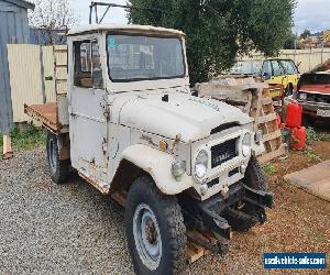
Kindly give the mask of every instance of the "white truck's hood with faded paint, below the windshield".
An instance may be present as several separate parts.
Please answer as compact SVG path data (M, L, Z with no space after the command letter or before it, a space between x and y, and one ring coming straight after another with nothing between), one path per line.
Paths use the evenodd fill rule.
M125 100L119 110L122 125L168 139L180 134L184 142L208 138L212 129L224 123L242 125L252 121L235 107L185 92L140 94Z

